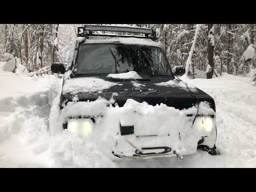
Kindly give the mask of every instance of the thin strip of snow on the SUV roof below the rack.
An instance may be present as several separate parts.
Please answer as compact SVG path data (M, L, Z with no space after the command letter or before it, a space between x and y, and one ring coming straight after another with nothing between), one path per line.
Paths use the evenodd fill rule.
M110 35L110 34L107 34ZM114 36L114 35L113 35ZM134 35L133 35L134 36ZM141 37L141 36L139 36ZM147 38L136 38L136 37L89 37L82 45L87 43L124 43L124 44L136 44L136 45L148 45L162 47L161 44L152 41Z

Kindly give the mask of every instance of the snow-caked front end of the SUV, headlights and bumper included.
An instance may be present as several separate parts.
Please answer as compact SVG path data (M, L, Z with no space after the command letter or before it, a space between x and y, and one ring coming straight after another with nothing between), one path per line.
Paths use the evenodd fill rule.
M123 107L109 104L103 98L68 102L60 121L69 131L93 140L107 154L124 158L181 156L195 153L198 145L215 145L215 111L207 102L199 103L198 109L183 110L132 99ZM81 120L90 118L93 121Z

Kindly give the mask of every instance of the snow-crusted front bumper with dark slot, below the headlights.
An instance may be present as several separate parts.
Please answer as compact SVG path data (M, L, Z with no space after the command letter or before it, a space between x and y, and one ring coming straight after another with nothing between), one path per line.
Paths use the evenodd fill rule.
M135 135L119 135L114 137L113 155L119 158L145 159L151 157L182 157L196 153L197 149L215 149L217 130L207 136L187 136L177 139L168 135L156 137L136 137Z

